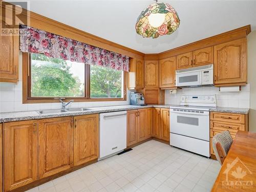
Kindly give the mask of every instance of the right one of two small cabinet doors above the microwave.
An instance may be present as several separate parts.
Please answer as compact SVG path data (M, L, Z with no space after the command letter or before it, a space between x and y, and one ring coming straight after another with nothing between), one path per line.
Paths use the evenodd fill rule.
M193 67L214 63L214 47L207 47L193 52Z

